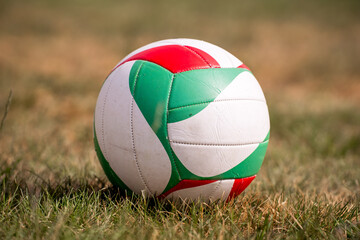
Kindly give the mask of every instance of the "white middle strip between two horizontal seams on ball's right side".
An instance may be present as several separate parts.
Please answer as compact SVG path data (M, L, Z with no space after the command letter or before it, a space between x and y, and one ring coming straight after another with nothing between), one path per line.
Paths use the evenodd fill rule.
M266 103L254 100L215 100L193 117L168 123L170 141L186 144L259 143L269 128Z

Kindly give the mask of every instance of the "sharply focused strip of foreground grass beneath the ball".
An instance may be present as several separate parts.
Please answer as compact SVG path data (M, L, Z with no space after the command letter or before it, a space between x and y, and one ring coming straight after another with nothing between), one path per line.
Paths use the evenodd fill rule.
M360 204L355 196L331 200L268 187L250 190L226 204L174 205L126 198L96 177L65 178L52 184L40 179L39 189L31 189L24 179L10 180L11 171L2 174L2 238L359 237ZM27 182L37 178L32 173L27 176Z

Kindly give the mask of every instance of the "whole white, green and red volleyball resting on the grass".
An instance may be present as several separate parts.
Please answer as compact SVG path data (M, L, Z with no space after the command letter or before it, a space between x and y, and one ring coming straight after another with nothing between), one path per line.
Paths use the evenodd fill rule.
M105 80L95 109L95 148L110 181L161 198L240 194L261 167L269 131L251 71L192 39L130 53Z

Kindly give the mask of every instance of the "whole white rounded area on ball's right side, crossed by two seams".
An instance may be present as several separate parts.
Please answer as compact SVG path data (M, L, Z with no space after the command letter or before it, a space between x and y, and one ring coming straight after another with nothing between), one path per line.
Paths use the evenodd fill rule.
M211 177L245 160L270 130L262 90L251 73L239 74L205 109L168 123L171 146L192 173Z

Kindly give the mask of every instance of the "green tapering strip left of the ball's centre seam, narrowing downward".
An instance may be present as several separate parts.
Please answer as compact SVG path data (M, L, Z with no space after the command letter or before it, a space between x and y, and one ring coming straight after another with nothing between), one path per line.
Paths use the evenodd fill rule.
M129 77L131 94L171 161L172 173L165 191L180 181L167 132L168 102L174 77L165 68L141 60L134 63Z

